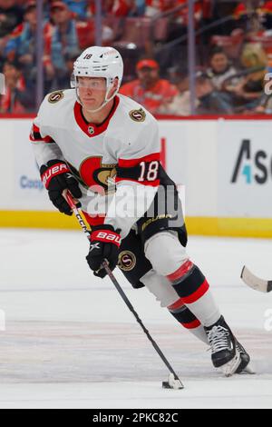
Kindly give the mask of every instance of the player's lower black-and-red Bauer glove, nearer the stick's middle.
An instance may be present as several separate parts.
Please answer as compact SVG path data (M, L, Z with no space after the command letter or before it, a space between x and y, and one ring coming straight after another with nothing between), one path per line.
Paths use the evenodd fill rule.
M112 225L99 225L92 227L90 242L87 263L95 276L103 278L107 273L102 268L102 262L106 259L111 270L118 263L121 235L114 231Z

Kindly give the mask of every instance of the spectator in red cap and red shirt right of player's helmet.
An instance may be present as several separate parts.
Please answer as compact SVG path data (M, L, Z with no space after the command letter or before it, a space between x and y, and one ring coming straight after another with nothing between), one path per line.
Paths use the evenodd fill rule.
M159 64L153 59L139 61L136 71L138 79L121 86L120 93L142 104L151 114L160 113L162 106L178 94L177 87L160 79Z

